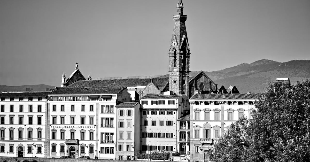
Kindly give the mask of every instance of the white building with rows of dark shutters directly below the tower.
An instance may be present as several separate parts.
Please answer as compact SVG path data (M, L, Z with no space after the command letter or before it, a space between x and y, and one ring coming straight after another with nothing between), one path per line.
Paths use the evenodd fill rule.
M187 96L147 94L141 97L140 103L141 152L177 151L177 119L190 109Z

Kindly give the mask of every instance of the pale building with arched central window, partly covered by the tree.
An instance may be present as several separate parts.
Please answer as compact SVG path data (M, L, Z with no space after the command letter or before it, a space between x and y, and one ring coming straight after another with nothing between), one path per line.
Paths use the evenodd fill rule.
M213 143L241 116L251 119L259 94L195 94L190 102L190 155L193 161L209 161Z

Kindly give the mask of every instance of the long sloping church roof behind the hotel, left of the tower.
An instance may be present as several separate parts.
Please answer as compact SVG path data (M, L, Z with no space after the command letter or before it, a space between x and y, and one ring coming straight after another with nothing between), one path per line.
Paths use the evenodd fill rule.
M169 82L169 77L153 78L153 83L157 86L165 86ZM147 86L150 79L109 79L109 80L79 80L68 87L134 87Z

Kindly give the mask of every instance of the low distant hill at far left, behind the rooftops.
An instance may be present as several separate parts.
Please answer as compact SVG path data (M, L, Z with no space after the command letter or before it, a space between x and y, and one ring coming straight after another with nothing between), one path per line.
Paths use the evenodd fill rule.
M38 85L22 85L22 86L6 86L0 85L0 92L3 91L26 91L26 88L32 88L32 91L46 91L46 88L55 88L54 86L38 84Z

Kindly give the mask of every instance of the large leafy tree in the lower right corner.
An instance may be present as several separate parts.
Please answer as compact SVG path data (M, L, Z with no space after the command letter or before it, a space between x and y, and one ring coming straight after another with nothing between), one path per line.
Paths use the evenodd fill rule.
M209 151L212 162L308 161L310 81L274 81L255 102L252 119L241 118Z

